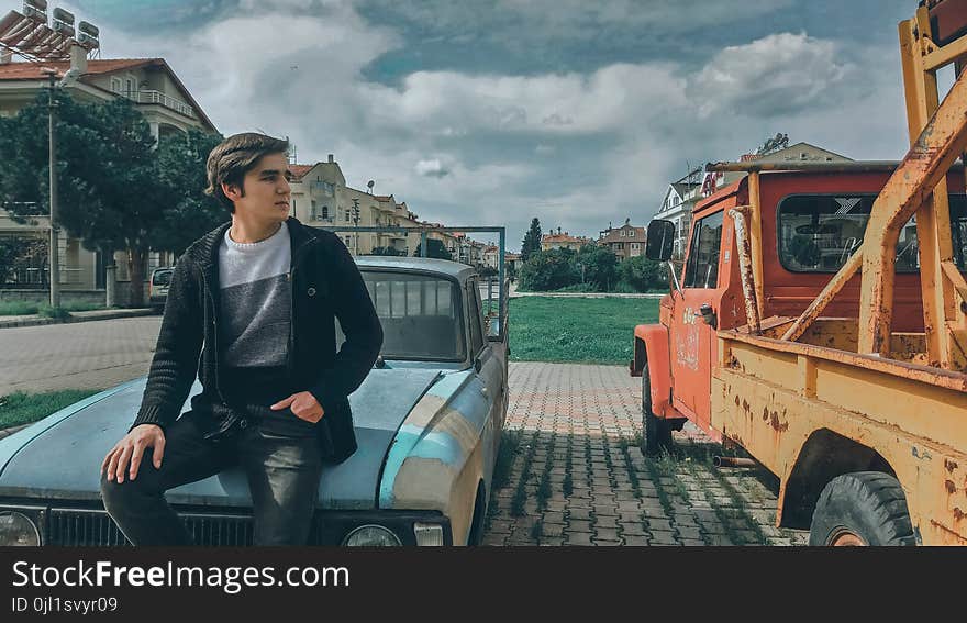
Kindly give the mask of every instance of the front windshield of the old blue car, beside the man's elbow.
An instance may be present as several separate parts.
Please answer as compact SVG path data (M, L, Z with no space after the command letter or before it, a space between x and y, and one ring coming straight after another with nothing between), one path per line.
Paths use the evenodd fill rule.
M363 270L382 324L385 359L463 361L463 303L455 281L444 277ZM336 337L345 337L336 321Z

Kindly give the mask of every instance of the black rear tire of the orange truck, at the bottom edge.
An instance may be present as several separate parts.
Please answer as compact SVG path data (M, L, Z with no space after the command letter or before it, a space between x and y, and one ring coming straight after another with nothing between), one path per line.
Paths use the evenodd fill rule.
M881 471L855 471L833 478L816 502L809 544L916 545L900 482Z

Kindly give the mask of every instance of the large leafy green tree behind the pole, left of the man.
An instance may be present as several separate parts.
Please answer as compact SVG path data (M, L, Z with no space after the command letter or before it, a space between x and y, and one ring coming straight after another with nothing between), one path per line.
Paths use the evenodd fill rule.
M0 120L0 202L19 222L46 214L47 92ZM221 136L198 131L155 140L126 99L82 104L56 91L57 222L90 251L125 251L131 302L143 304L148 249L184 251L229 215L202 193L204 162ZM37 208L41 208L40 212Z

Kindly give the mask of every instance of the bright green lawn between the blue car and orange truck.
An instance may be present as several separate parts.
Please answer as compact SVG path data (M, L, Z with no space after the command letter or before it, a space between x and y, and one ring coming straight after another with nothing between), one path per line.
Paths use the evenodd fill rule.
M658 299L511 299L510 359L626 365L634 326L655 322Z

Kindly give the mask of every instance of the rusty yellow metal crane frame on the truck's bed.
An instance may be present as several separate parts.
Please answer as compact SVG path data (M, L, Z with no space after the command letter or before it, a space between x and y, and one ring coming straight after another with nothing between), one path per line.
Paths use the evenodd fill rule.
M936 69L941 59L949 64L963 58L967 37L948 44L949 52L942 55L945 48L930 41L925 7L918 10L915 19L901 22L899 32L910 152L877 197L860 249L782 338L798 340L843 286L862 271L858 351L890 357L893 259L900 230L915 213L926 360L934 367L959 368L965 360L967 285L953 263L946 173L967 148L967 81L958 75L941 104Z

